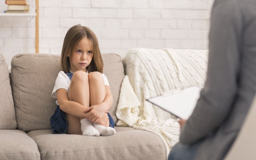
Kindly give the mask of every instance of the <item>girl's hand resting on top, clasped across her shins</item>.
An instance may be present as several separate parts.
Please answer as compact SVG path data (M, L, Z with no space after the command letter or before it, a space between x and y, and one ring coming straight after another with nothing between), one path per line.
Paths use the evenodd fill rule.
M100 118L105 114L108 113L108 111L103 109L104 107L102 107L100 104L99 105L94 105L91 106L87 109L85 109L84 112L89 112L85 118L89 119L92 122L98 122L100 120Z

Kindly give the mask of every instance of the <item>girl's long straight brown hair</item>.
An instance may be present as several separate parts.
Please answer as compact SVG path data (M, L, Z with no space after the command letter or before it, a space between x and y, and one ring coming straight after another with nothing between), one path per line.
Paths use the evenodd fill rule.
M70 72L70 61L69 57L72 57L72 53L76 47L76 45L80 42L82 38L88 38L92 44L92 61L89 66L86 67L87 71L94 72L98 71L100 73L103 72L103 61L100 54L100 48L98 44L97 37L92 32L92 30L88 27L84 27L79 25L75 25L71 27L63 42L62 51L61 51L61 69L68 73ZM69 57L68 57L69 53Z

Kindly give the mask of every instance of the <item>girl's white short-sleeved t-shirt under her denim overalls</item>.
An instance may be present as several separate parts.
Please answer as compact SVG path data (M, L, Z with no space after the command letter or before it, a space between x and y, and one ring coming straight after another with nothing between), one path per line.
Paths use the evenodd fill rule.
M87 75L88 74L89 73L87 72ZM104 84L109 86L108 79L104 74L102 74L102 78L104 80ZM68 76L63 71L60 71L55 81L55 86L52 91L52 97L57 98L57 90L60 88L68 91L70 82L71 81ZM58 100L56 100L56 104L59 105Z

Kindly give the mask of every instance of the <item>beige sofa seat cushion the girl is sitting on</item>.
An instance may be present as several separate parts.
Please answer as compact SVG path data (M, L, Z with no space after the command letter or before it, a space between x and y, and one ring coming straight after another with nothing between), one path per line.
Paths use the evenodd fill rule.
M164 142L154 133L115 127L111 136L52 134L51 130L28 132L36 141L41 159L166 159Z

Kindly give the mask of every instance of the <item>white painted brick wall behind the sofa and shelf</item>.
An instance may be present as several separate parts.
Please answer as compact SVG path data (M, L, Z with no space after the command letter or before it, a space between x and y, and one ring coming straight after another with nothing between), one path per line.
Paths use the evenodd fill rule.
M30 12L35 0L28 0ZM75 24L90 27L102 53L122 57L130 48L207 49L213 0L42 0L39 52L60 54ZM7 10L0 2L0 12ZM35 18L0 16L0 52L8 66L15 54L35 52Z

